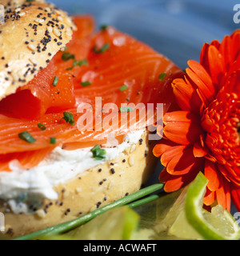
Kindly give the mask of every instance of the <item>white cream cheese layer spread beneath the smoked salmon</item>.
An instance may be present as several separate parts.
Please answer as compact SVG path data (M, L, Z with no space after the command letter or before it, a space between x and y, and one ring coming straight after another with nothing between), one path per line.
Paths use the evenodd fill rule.
M106 159L96 160L90 148L63 150L57 147L38 166L23 170L17 160L10 162L11 172L0 172L0 198L6 200L14 213L27 212L26 202L39 203L43 198L54 200L54 187L78 177L85 170L118 158L124 150L138 143L144 130L126 134L117 146L105 148Z

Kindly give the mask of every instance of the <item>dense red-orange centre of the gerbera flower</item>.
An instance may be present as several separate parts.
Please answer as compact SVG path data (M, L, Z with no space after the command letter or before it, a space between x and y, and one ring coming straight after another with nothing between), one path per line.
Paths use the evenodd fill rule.
M202 128L206 145L221 164L240 166L240 99L237 94L224 94L203 110Z

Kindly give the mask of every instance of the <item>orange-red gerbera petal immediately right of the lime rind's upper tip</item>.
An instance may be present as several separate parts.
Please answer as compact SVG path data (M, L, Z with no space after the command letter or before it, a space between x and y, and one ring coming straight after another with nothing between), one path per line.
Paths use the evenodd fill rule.
M206 160L205 168L204 168L204 175L208 179L207 187L210 191L218 190L220 186L219 178L218 178L218 169L216 168L213 162Z

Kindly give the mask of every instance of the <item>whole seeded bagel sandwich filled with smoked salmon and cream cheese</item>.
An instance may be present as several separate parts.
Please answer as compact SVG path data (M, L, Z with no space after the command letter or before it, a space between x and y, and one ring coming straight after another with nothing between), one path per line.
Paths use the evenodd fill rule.
M156 131L150 132L148 126L119 129L117 144L109 145L106 137L110 130L99 133L93 129L84 134L78 129L78 104L84 102L82 98L90 102L91 97L103 94L105 100L112 97L117 107L119 101L132 99L145 105L161 102L166 111L173 101L171 82L182 75L182 70L149 46L112 27L97 35L90 33L91 18L86 18L87 32L81 34L84 26L79 28L66 12L44 1L4 0L0 4L4 6L0 8L4 10L4 18L0 19L0 213L5 224L0 238L10 239L73 220L139 190L157 163L158 158L152 154L156 141L149 139ZM76 38L78 32L81 38ZM74 40L76 46L71 45ZM104 44L104 40L109 41ZM69 46L74 54L66 50ZM90 63L81 55L86 48ZM134 58L134 54L139 56ZM77 56L84 58L79 60ZM124 56L130 59L122 64ZM120 77L115 78L114 74ZM111 82L104 80L108 77ZM116 82L118 79L123 80ZM21 88L26 92L26 85L32 81L32 96L36 96L40 84L44 89L49 84L45 93L50 100L43 112L30 119L26 115L28 106L21 109L26 102L20 95L28 94L19 92L22 93ZM91 85L96 81L100 86ZM105 89L101 90L101 86ZM13 99L20 101L22 116L6 111ZM119 107L115 113L121 111ZM123 112L128 114L131 110ZM104 149L104 157L94 157L95 145Z

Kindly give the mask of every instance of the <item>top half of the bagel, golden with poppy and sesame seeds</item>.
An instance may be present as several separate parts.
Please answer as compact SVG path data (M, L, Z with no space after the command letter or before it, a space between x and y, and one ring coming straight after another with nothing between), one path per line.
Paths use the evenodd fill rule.
M0 7L1 100L45 68L70 42L75 26L66 12L44 1L0 0Z

